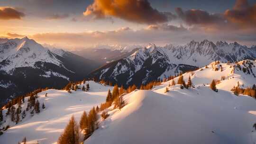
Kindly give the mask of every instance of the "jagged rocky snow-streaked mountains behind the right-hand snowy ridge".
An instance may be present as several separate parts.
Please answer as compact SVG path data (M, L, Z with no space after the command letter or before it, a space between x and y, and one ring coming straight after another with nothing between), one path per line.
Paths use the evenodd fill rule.
M202 67L212 61L236 62L256 59L256 47L208 40L183 46L150 44L135 53L109 63L91 73L92 77L123 84L146 84L179 72Z

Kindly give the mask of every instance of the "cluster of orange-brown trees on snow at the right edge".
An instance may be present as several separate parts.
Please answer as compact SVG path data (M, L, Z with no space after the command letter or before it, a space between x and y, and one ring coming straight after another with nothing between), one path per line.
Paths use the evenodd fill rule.
M256 98L256 85L255 84L252 87L247 87L246 89L243 89L243 88L240 88L240 84L238 81L237 86L236 87L234 86L231 89L231 91L233 91L233 93L237 96L239 94L244 94L244 95L248 95L250 97Z

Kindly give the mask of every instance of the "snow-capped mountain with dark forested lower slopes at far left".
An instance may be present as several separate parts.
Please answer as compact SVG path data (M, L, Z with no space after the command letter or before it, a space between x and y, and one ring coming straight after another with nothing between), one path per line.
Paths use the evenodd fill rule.
M43 87L61 88L83 79L99 63L61 49L49 49L33 39L9 39L0 44L0 99Z

